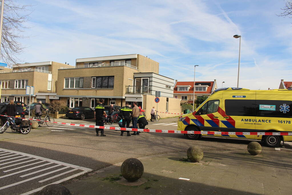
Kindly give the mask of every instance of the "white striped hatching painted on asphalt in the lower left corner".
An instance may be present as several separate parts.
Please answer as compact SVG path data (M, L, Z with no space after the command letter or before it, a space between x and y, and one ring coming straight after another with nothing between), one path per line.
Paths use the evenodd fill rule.
M44 186L42 186L42 187L40 187L40 188L37 188L37 189L33 189L33 190L28 191L28 192L26 192L26 193L23 194L23 195L28 195L28 194L32 194L32 193L34 193L34 192L37 192L37 191L41 190L42 188L44 188L44 187L47 186L47 185L50 185L50 184L58 184L58 183L60 183L60 182L63 182L63 181L66 181L66 180L72 179L72 178L74 178L74 177L77 177L77 176L82 175L82 174L84 174L84 173L87 173L87 172L89 172L89 171L92 171L92 170L89 169L89 168L85 168L85 167L81 167L81 166L77 166L77 165L72 165L72 164L64 163L64 162L60 162L60 161L55 161L55 160L47 159L47 158L44 158L44 157L41 157L41 156L35 156L35 155L31 155L31 154L26 154L26 153L17 152L17 151L12 151L12 150L7 150L7 149L2 149L2 148L0 148L0 151L4 151L4 152L6 152L6 153L9 152L9 153L13 153L13 154L18 154L18 155L20 155L20 156L13 157L13 158L10 158L10 159L1 160L1 161L8 161L8 162L1 163L1 164L0 164L0 169L4 169L4 168L11 167L11 169L9 169L9 170L4 170L3 172L8 172L8 171L12 171L12 170L20 169L19 171L15 172L15 173L11 173L11 174L8 174L8 175L4 175L4 176L2 176L2 177L8 177L8 176L11 176L11 175L15 175L15 174L17 174L17 173L22 173L22 172L25 172L25 171L28 171L28 170L32 170L32 169L34 169L34 168L39 168L39 167L41 167L41 166L45 166L45 165L53 164L53 163L55 163L55 164L57 164L57 165L55 165L55 166L51 166L51 167L48 167L48 168L45 168L45 169L42 169L42 170L37 170L37 171L35 171L35 172L33 172L33 173L27 173L27 174L25 174L25 175L22 175L22 177L25 177L25 176L28 176L28 175L32 175L32 174L34 174L34 173L38 173L38 172L41 172L41 171L44 171L44 170L47 170L47 169L51 169L51 168L54 168L54 167L57 167L57 166L64 166L64 167L59 168L59 169L57 169L57 170L53 170L53 171L48 172L48 173L44 173L44 174L41 174L41 175L38 175L38 176L35 176L35 177L31 177L31 178L28 178L28 179L26 179L26 180L22 180L22 181L15 182L15 183L10 183L10 184L8 183L8 185L3 186L3 187L0 187L0 190L1 190L1 189L8 188L8 187L12 187L12 186L15 186L15 185L18 185L18 184L24 183L24 182L27 182L27 185L30 186L31 189L33 189L33 186L35 186L35 185L34 185L34 182L37 182L37 181L31 181L31 182L29 182L30 180L34 180L34 179L39 178L39 177L44 177L44 176L46 176L46 175L50 175L50 174L52 174L52 173L59 172L59 171L64 170L64 169L68 169L68 168L70 169L70 170L67 170L67 171L65 171L65 172L61 172L61 173L59 172L57 175L54 175L54 174L53 174L53 175L51 175L51 177L48 177L48 178L46 178L46 177L45 177L45 178L42 178L43 180L41 180L41 181L39 181L39 182L45 182L45 181L51 180L51 179L56 178L56 177L60 177L60 180L58 180L58 181L56 181L56 182L53 182L53 183L46 182ZM0 152L0 154L1 154L1 153L4 153L4 152ZM9 154L9 153L8 153L8 154ZM21 159L12 160L12 159L15 159L15 158L21 158ZM29 160L24 161L25 159L29 159ZM23 166L17 167L17 165L19 165L19 164L27 163L27 162L31 162L31 161L35 161L35 160L41 160L41 161L38 161L38 162L34 162L34 163L31 163L31 164L27 164L27 165L23 165ZM1 162L1 161L0 161L0 162ZM17 162L17 161L23 161L23 162L21 162L21 163L11 164L11 163L13 163L13 162ZM39 165L39 166L35 166L35 167L31 167L31 168L27 168L27 169L25 169L25 170L21 170L21 168L23 168L23 167L31 166L31 165L34 165L34 164L37 164L37 163L40 163L40 162L47 162L47 163L42 164L42 165ZM8 163L9 163L10 165L8 165L8 166L4 166L4 167L1 167L2 165L8 164ZM15 167L13 168L13 166L15 166ZM79 173L76 173L76 174L74 174L74 175L70 175L69 177L66 177L66 178L63 178L64 176L62 177L62 175L65 175L65 174L68 174L68 173L70 173L70 172L74 172L74 171L77 171L77 170L80 171L80 172L79 172ZM0 177L0 178L2 178L2 177ZM13 182L13 181L14 181L14 180L12 180L12 182ZM0 185L1 185L1 184L0 184Z

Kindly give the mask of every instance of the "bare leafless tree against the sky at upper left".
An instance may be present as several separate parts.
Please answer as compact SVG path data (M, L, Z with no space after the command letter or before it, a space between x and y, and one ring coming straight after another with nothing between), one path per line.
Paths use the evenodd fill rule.
M25 22L29 20L29 15L32 12L29 8L31 7L31 5L18 5L14 0L4 1L1 62L10 65L22 62L17 55L22 53L25 48L20 43L20 39L26 38L26 36L23 36L23 32L26 28L29 28L25 26Z

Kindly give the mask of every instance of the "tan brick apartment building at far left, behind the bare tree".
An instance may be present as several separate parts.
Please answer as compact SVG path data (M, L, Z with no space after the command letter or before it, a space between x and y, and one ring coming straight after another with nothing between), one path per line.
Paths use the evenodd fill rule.
M12 69L0 70L2 84L1 102L14 100L29 104L26 86L34 86L31 102L50 103L59 99L56 95L58 69L69 66L59 62L36 62L13 65Z

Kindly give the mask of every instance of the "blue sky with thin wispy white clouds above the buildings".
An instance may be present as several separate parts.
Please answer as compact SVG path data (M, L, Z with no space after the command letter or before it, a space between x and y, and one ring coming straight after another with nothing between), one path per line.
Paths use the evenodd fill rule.
M20 1L34 11L23 62L141 54L179 81L217 79L218 87L279 88L291 79L292 18L284 0Z

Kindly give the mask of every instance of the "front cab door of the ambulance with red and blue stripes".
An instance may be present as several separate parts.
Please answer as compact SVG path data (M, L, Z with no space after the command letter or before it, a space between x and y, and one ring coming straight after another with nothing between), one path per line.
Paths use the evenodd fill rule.
M203 131L218 131L220 127L221 115L218 112L221 98L209 100L204 105L194 112L195 119L191 119Z

